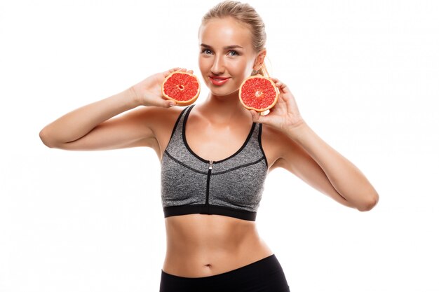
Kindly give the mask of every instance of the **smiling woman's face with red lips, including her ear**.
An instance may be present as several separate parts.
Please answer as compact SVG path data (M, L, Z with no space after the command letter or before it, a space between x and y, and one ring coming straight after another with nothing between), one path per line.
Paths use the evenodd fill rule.
M198 43L198 66L203 80L217 96L239 90L244 79L253 69L259 69L263 61L264 53L257 58L252 48L250 29L233 18L209 20L200 27Z

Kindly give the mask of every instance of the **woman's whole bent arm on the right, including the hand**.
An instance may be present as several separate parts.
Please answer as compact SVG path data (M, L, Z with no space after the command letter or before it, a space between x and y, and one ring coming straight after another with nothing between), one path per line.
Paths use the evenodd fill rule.
M271 80L280 92L278 102L266 116L253 110L250 112L254 122L274 127L285 138L277 136L281 145L275 166L296 174L341 204L360 211L372 209L379 196L360 169L326 144L305 123L287 85L276 78Z

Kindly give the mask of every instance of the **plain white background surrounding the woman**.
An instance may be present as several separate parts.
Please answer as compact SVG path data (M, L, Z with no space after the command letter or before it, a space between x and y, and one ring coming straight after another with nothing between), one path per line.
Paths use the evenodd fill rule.
M200 76L198 26L215 4L1 0L1 292L158 291L156 153L51 149L39 131L156 72ZM250 4L271 76L380 195L360 212L269 174L257 226L291 291L439 291L438 1Z

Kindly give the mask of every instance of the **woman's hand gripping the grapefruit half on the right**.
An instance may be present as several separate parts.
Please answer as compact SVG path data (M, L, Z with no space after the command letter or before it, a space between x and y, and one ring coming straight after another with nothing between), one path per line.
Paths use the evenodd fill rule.
M283 132L304 123L297 108L295 97L287 85L277 78L269 77L269 79L274 82L274 85L276 85L279 90L278 101L269 110L270 112L266 116L260 115L255 110L250 110L253 122L270 125Z

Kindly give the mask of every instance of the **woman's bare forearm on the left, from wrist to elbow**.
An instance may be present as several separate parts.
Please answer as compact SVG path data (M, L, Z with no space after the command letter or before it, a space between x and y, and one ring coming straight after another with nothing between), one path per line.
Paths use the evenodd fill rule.
M40 132L44 144L62 144L86 135L100 123L140 104L129 88L97 102L81 106L43 127Z

